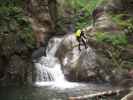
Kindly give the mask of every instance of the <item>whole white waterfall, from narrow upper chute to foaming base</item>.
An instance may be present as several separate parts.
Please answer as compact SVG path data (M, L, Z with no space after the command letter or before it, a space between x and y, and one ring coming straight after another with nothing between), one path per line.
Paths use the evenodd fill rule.
M61 70L61 64L55 57L56 50L59 47L61 38L53 38L49 41L46 54L42 56L35 65L35 85L36 86L52 86L60 88L72 88L77 86L76 83L68 82Z

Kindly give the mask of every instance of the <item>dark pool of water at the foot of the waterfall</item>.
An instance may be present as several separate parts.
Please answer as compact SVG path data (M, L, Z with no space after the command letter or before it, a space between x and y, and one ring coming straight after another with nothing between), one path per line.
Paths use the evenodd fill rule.
M117 88L108 84L79 84L73 88L51 86L0 87L0 100L68 100L71 96L82 96L115 89Z

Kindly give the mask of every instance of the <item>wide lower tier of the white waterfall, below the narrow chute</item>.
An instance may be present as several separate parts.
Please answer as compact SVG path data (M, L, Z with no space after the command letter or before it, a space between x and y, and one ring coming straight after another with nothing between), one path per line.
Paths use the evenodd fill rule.
M35 63L35 67L37 82L65 81L57 58L41 57L39 62Z

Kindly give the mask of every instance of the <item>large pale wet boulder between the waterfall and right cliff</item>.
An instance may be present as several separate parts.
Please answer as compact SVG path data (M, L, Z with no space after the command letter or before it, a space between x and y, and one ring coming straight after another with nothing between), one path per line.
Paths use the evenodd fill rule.
M91 47L82 51L78 49L78 42L73 34L66 35L62 40L56 56L59 58L64 74L68 80L89 81L96 78L96 55Z

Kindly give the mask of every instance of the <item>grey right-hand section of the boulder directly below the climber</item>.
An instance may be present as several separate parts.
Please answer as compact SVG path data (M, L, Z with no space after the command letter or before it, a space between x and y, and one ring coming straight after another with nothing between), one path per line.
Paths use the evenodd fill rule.
M75 73L77 73L77 79L82 81L95 80L96 73L96 54L92 48L88 47L83 50L77 60Z

